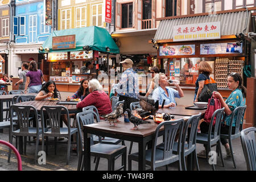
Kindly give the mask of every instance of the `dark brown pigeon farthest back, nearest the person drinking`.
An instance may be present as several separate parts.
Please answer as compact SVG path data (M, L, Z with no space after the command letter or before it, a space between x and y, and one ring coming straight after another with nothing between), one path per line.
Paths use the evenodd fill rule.
M139 105L141 105L144 111L149 111L150 115L154 116L159 109L159 101L155 101L148 97L139 96Z

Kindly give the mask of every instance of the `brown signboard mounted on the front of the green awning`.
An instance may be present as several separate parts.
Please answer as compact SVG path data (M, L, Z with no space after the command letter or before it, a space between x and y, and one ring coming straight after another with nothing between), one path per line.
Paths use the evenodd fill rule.
M53 36L52 49L75 49L76 35Z

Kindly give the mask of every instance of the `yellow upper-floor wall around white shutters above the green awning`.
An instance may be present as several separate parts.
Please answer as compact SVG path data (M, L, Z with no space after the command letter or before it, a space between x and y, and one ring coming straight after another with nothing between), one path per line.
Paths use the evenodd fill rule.
M64 0L67 1L67 0ZM65 9L71 9L71 28L76 28L76 7L84 7L86 6L86 26L92 26L92 5L98 5L102 4L102 22L105 20L105 1L104 0L86 0L86 2L83 3L76 3L76 0L70 0L70 5L68 6L62 6L61 5L62 0L58 1L58 30L62 30L61 27L61 10ZM106 23L103 23L103 26Z

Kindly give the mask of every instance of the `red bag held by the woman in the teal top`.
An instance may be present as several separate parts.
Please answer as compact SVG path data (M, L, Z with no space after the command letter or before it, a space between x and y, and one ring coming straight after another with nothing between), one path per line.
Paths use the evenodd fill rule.
M221 109L220 100L212 96L208 100L207 110L205 110L205 114L204 114L204 121L207 123L210 123L210 120L212 119L212 115L214 111L216 111L217 109ZM215 122L216 122L216 118L214 118L213 126L215 125Z

